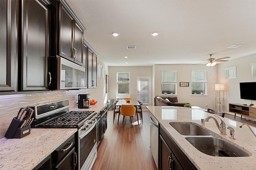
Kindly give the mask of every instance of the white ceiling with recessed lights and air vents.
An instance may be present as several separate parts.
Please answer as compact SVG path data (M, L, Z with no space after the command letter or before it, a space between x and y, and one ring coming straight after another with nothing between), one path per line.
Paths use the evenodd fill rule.
M84 39L108 66L197 64L209 54L230 60L256 54L256 0L66 2L86 28ZM160 34L153 37L154 31ZM231 45L243 46L227 49Z

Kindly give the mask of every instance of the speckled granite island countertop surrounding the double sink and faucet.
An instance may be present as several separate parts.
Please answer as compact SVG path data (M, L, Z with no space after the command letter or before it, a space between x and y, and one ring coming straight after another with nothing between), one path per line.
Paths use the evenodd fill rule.
M221 135L213 119L201 124L201 119L205 119L212 114L202 111L200 108L174 107L174 106L147 106L148 110L158 120L160 126L166 131L168 135L176 142L178 147L190 159L190 161L199 170L225 169L225 170L252 170L256 169L256 138L248 127L240 128L240 122L222 118L226 126L231 126L235 130L235 139L230 139L229 130L227 135ZM220 122L220 120L218 120ZM252 156L248 157L218 157L204 154L193 147L180 133L178 133L169 122L192 122L211 132L224 141L230 142L232 145L246 151ZM256 128L252 127L256 132Z

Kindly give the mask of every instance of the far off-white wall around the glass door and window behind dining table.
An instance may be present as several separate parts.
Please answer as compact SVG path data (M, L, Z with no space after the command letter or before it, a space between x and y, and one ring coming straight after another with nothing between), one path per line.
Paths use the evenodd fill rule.
M152 66L141 67L113 67L108 68L109 71L109 98L116 100L116 73L130 72L131 76L131 98L137 99L137 76L150 76L152 82ZM135 88L134 88L135 87ZM151 84L152 87L152 84ZM152 92L151 92L152 94ZM152 103L152 101L151 101Z

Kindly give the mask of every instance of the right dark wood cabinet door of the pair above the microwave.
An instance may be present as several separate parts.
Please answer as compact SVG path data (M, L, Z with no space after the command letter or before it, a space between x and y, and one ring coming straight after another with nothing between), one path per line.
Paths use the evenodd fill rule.
M75 23L74 27L75 62L85 66L86 56L83 55L84 30L78 25L78 23Z

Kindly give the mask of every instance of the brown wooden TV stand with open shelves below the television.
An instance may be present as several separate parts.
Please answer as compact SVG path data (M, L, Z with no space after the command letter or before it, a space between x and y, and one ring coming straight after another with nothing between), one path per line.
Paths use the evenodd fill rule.
M235 113L242 116L250 117L253 119L256 119L256 107L252 106L246 106L244 104L238 104L238 103L230 103L229 105L229 112Z

